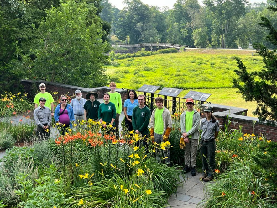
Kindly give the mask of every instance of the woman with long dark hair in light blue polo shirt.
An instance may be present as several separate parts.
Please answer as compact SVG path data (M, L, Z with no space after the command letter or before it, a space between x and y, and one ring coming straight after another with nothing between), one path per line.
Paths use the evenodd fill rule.
M133 131L132 116L134 107L139 105L137 93L129 90L127 100L124 102L125 126L128 131Z

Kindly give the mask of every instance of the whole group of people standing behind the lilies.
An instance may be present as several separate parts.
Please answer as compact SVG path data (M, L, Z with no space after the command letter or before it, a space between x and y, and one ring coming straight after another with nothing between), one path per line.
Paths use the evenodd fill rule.
M60 104L56 107L54 113L54 99L50 93L45 91L44 83L39 85L40 93L35 96L34 119L37 124L36 135L38 137L50 136L51 116L54 115L55 122L62 126L61 134L66 129L72 129L72 123L78 125L82 120L100 121L103 128L108 125L115 127L113 133L119 137L119 115L122 111L122 99L118 92L115 92L116 83L110 83L111 91L103 95L104 103L100 104L96 100L97 93L90 92L86 99L82 98L80 90L75 91L76 98L67 104L65 95L60 97ZM172 130L172 120L169 110L163 106L162 97L155 98L157 108L151 111L145 105L146 96L137 95L134 90L128 91L128 99L124 102L125 126L129 132L139 134L143 138L143 145L147 146L147 139L151 139L157 144L166 142L169 139ZM206 118L201 121L200 114L194 109L194 100L186 100L187 110L181 114L180 125L182 136L180 138L180 148L185 150L185 167L186 173L191 171L191 175L196 175L196 153L199 145L199 128L201 134L201 155L203 174L200 179L210 181L214 176L215 169L215 139L219 132L219 122L212 115L212 108L205 107L204 113ZM149 134L150 128L150 134ZM166 163L170 164L170 150L165 149Z

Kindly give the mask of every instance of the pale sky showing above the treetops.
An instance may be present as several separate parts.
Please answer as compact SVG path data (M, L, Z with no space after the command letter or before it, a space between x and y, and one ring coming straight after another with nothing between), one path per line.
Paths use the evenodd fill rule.
M164 7L167 6L169 8L173 8L173 4L176 2L176 0L141 0L143 3L148 4L149 6L159 6ZM249 3L254 2L266 2L266 0L248 0ZM122 9L124 7L123 0L109 0L109 2L115 6L118 9ZM200 0L200 4L202 4L202 1Z

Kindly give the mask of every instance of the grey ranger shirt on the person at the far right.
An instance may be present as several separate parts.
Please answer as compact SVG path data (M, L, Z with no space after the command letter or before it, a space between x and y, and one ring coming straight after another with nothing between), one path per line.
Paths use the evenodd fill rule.
M204 141L214 139L215 132L219 131L219 122L216 120L216 122L213 123L212 119L208 121L207 118L205 118L201 121L200 129L203 130L201 139Z

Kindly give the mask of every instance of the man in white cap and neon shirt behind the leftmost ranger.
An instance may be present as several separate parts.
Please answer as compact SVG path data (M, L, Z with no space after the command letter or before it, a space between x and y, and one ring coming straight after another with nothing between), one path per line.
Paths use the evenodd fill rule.
M44 83L41 83L39 85L40 93L37 93L35 98L34 98L34 104L35 104L35 109L39 106L39 99L40 98L45 98L47 102L45 102L45 107L48 107L51 109L51 116L54 116L54 99L52 95L48 92L46 92L46 86Z

